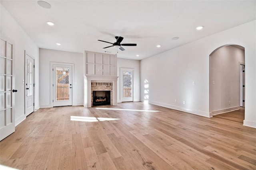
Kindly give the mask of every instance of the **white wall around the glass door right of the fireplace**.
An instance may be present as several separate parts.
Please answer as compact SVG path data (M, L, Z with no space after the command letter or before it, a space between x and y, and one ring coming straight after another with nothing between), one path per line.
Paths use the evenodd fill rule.
M117 58L117 102L122 102L120 97L120 68L133 68L133 101L140 101L140 61Z

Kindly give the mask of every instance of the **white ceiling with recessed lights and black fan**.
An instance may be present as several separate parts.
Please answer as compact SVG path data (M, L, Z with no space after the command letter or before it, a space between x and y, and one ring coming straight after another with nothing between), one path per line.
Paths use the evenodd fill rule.
M256 19L255 0L2 0L2 5L39 48L83 53L116 53L98 39L137 43L118 57L141 60ZM46 21L52 21L49 26ZM198 31L197 26L204 29ZM172 40L172 37L180 37ZM56 43L61 43L58 46ZM162 45L157 48L156 45ZM136 55L140 55L136 57Z

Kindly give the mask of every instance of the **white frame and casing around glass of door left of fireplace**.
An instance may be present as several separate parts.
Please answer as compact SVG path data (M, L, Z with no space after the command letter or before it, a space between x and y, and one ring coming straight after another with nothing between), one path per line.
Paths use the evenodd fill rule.
M55 67L69 67L70 68L70 83L69 83L69 88L70 90L70 100L66 100L66 101L56 101L56 86L54 86L54 84L56 84L54 81L54 78L56 76L54 76L54 74L56 75L56 71L55 71ZM74 77L74 64L72 63L56 63L56 62L50 62L50 105L52 107L54 106L72 106L73 105L73 77ZM71 84L71 85L70 85Z

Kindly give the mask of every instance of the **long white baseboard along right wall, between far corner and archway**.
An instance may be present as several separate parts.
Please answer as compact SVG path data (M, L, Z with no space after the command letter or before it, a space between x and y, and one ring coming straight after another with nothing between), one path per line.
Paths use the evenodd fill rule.
M200 116L204 116L204 117L210 117L210 113L205 112L205 111L198 111L198 110L192 110L192 109L186 109L183 107L178 107L178 106L172 106L169 104L163 104L163 103L158 103L158 102L152 102L152 101L148 101L149 104L154 104L157 106L162 106L162 107L167 107L170 109L174 109L174 110L178 110L178 111L184 111L187 113L192 113L194 115L200 115Z

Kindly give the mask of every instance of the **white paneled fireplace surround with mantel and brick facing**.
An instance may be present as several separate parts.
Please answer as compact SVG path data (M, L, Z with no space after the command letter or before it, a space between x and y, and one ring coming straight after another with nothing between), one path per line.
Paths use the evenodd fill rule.
M117 56L84 51L84 106L92 107L94 91L110 91L110 105L117 105ZM98 102L105 102L103 96L96 95ZM107 99L106 99L107 100Z

